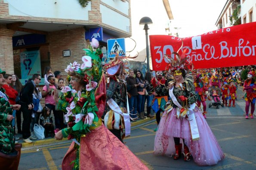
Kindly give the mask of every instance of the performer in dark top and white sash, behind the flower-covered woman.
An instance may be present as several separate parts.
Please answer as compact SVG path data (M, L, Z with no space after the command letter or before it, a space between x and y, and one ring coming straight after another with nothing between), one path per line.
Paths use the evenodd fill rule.
M126 128L126 135L130 135L130 115L127 114L127 93L125 76L128 74L127 61L123 59L128 57L116 56L114 60L104 65L106 71L106 96L107 103L105 107L106 115L104 124L122 143L123 137L121 131ZM129 112L128 112L129 113Z

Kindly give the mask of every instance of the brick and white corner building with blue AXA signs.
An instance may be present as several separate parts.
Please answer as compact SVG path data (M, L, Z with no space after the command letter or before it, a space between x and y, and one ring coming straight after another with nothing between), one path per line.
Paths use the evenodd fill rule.
M130 0L0 0L0 68L22 82L46 66L65 74L93 37L106 56L107 39L131 35Z

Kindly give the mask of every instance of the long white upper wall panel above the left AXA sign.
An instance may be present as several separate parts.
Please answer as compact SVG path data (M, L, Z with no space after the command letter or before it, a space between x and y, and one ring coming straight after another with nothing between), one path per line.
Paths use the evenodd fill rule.
M89 20L91 10L90 2L83 8L78 0L77 3L74 0L4 0L4 3L9 3L9 15L29 17Z

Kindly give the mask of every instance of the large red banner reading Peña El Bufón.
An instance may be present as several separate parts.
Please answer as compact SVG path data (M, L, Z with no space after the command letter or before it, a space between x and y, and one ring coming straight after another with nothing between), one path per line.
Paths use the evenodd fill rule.
M256 64L256 22L193 37L151 35L149 39L153 70L165 70L168 61L164 55L177 52L182 40L179 55L186 49L185 56L191 59L195 69Z

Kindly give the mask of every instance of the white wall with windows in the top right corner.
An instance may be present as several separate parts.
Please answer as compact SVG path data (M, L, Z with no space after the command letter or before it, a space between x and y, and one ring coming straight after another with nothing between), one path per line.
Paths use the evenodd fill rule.
M253 8L253 21L256 21L256 1L255 0L245 0L244 3L242 3L243 0L241 0L241 21L242 24L244 23L243 17L246 15L246 23L249 22L249 10Z

